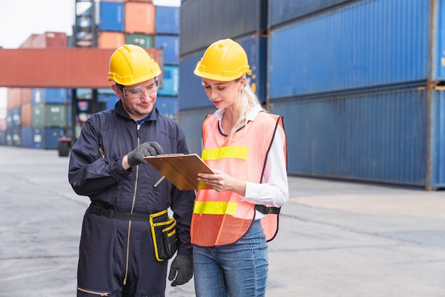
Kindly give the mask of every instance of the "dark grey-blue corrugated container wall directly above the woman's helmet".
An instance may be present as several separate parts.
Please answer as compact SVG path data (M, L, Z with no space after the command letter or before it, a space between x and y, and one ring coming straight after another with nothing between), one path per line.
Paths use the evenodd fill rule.
M222 38L267 31L267 0L186 1L181 5L181 58Z

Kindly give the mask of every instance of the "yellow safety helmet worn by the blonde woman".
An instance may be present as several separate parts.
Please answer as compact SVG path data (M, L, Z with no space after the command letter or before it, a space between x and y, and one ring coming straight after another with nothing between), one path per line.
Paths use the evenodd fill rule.
M223 39L212 43L196 64L195 75L209 80L229 82L252 74L247 54L239 43L232 39Z

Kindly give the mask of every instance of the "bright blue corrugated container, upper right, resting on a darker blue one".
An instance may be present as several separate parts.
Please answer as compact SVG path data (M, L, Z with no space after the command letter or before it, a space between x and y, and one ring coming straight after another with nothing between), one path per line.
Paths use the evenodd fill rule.
M445 11L433 3L353 2L272 30L269 97L443 80Z

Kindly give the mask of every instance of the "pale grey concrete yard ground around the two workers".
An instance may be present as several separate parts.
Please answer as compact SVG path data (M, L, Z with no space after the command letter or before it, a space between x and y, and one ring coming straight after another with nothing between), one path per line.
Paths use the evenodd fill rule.
M444 191L295 177L289 188L268 297L445 296ZM0 201L0 296L75 296L89 203L68 158L0 146ZM194 296L193 280L166 296Z

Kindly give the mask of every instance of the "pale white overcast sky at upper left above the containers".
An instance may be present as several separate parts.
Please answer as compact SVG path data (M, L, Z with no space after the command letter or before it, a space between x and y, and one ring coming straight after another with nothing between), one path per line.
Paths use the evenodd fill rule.
M179 6L181 0L154 0L155 5ZM31 34L73 34L75 0L1 0L0 47L19 48ZM0 107L6 106L0 87Z

